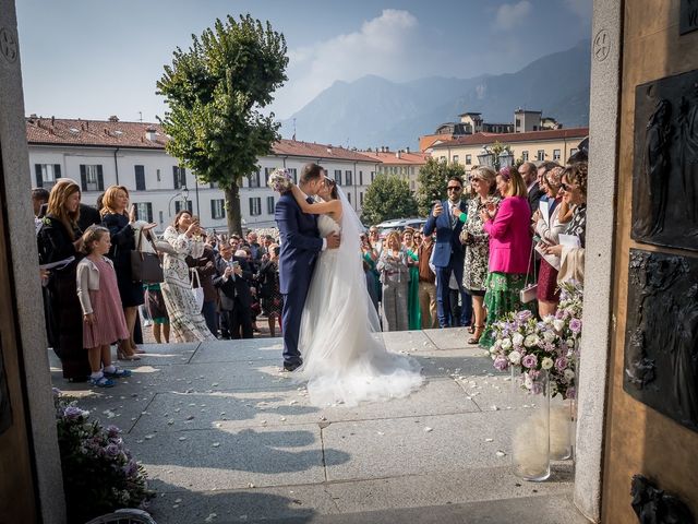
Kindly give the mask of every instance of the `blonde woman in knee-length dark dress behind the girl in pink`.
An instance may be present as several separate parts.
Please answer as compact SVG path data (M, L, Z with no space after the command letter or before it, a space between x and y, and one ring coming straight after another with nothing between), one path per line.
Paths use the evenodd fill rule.
M111 186L105 191L100 210L104 226L111 235L111 249L109 258L113 261L113 269L117 272L117 283L121 306L127 319L131 337L119 344L118 356L120 359L137 360L139 348L133 341L133 331L139 314L139 306L144 302L143 283L134 282L131 274L131 251L136 249L136 238L134 229L136 226L135 206L129 207L129 190L123 186ZM155 224L140 224L143 231L149 230Z

